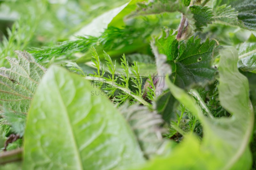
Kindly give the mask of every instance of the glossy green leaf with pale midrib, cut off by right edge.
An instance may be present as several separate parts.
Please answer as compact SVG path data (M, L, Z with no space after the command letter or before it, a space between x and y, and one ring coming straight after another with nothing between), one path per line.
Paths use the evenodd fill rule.
M238 68L256 73L256 43L244 42L239 47Z

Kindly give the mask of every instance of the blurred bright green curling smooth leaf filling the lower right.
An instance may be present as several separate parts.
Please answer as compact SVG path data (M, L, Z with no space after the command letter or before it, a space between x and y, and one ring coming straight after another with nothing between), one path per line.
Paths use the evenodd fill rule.
M248 143L253 128L253 110L249 99L248 80L239 73L237 60L238 54L234 47L225 47L220 51L219 98L221 105L232 115L229 118L206 117L191 96L167 80L173 96L201 121L203 139L200 142L195 136L187 135L168 157L155 159L137 169L251 168L252 158Z

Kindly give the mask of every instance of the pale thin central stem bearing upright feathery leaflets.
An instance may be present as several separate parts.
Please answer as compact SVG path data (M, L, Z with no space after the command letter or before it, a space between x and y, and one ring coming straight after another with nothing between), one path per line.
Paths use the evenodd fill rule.
M132 94L132 91L127 89L127 88L124 88L124 87L120 87L118 85L116 85L116 83L112 82L112 81L107 81L105 80L104 78L99 78L99 77L90 77L90 76L86 76L84 77L84 79L86 80L94 80L94 81L101 81L101 82L104 82L104 83L107 83L109 85L112 85L120 90L122 90L123 92L127 93L128 95L132 96L134 99L138 100L141 104L143 104L144 106L150 106L149 103L147 101L145 101L144 99L142 99L140 96L137 96L137 95L134 95Z

